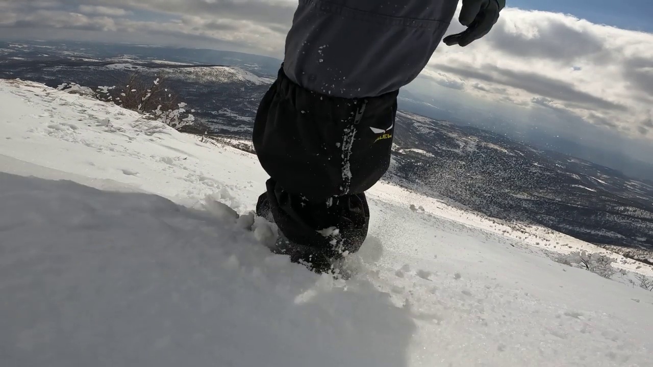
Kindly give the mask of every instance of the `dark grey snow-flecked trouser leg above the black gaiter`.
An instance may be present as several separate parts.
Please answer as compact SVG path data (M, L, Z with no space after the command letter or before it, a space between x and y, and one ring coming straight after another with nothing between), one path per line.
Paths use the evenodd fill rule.
M458 0L299 0L283 71L334 97L375 97L426 66Z

